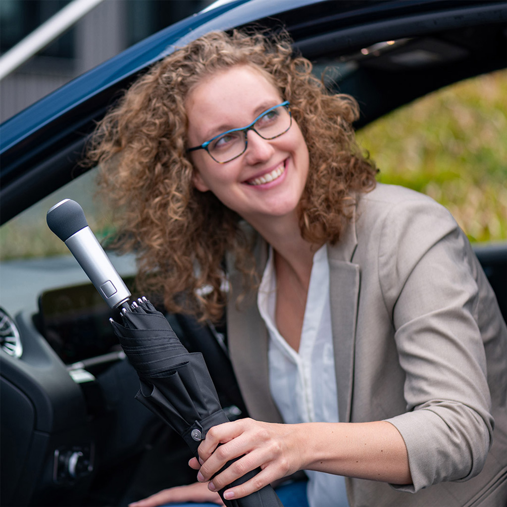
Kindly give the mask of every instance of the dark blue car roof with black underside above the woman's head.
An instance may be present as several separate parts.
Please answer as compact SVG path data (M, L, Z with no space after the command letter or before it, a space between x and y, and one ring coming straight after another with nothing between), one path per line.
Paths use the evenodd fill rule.
M252 23L285 27L296 50L314 61L317 70L335 67L340 78L331 86L359 100L360 126L441 86L504 67L505 6L503 0L231 0L214 4L132 46L0 125L0 220L4 223L79 175L84 169L76 164L87 136L123 90L151 64L208 31ZM425 54L439 55L442 62L413 64Z

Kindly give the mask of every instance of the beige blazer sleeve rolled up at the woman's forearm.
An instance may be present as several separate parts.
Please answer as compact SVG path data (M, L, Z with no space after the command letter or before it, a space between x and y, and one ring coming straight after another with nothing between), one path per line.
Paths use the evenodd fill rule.
M378 273L407 402L406 413L387 420L402 434L413 479L396 489L465 481L484 466L494 422L477 316L480 269L436 202L401 202L386 215Z

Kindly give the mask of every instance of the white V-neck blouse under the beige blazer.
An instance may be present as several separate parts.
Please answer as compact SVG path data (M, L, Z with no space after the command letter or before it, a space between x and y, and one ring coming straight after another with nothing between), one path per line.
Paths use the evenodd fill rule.
M288 424L338 422L329 264L326 246L313 256L299 351L287 344L275 323L276 276L273 249L264 270L257 305L269 332L271 396ZM305 470L310 507L348 507L345 479Z

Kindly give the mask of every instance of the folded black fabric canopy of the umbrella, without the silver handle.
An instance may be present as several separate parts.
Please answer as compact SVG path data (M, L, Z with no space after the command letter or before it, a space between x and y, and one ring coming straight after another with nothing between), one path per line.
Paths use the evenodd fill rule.
M146 299L123 308L122 324L111 319L120 344L137 371L140 389L136 399L171 426L196 458L201 440L216 424L229 422L219 402L204 358L188 352L162 313ZM230 463L226 464L226 467ZM283 507L271 486L235 500L223 497L225 489L246 482L260 468L219 491L231 507Z

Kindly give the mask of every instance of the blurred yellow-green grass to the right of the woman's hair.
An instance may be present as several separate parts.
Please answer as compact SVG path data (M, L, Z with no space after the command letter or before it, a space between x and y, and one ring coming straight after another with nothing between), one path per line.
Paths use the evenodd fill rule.
M507 239L507 70L422 97L357 140L380 182L431 196L472 242Z

